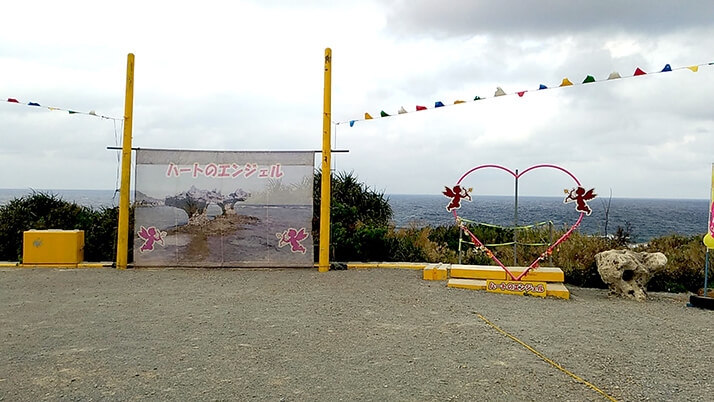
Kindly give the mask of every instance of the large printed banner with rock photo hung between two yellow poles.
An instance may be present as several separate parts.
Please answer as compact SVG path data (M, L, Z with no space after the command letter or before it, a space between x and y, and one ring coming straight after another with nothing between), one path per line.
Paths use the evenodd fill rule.
M314 152L136 152L134 264L311 267Z

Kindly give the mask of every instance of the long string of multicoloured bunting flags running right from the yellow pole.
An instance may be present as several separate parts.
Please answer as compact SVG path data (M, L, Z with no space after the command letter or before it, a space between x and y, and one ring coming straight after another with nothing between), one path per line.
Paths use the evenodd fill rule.
M652 75L652 74L666 73L666 72L671 72L671 71L676 71L676 70L684 70L684 69L687 69L687 70L690 70L690 71L696 73L699 71L699 67L712 66L712 65L714 65L714 62L701 63L701 64L696 64L693 66L683 66L683 67L672 68L672 66L670 66L669 64L666 64L662 70L652 71L649 73L647 73L644 70L642 70L641 68L637 67L635 69L635 72L631 76L623 77L617 71L613 71L612 73L610 73L610 75L608 75L608 77L605 80L600 80L600 81L595 80L594 76L588 74L585 77L585 79L579 84L578 83L574 84L568 78L563 78L563 81L561 81L560 85L558 85L557 87L548 87L544 84L540 84L535 91L542 91L542 90L546 90L546 89L555 89L555 88L562 88L562 87L570 87L570 86L575 86L575 85L585 85L585 84L598 83L598 82L606 82L606 81L612 81L612 80L617 80L617 79L634 78L634 77L639 77L641 75ZM529 90L517 91L517 92L513 92L513 93L506 93L506 91L504 91L503 88L496 87L496 92L494 92L493 96L490 98L496 98L499 96L507 96L507 95L518 95L518 97L522 98L526 94L526 92L529 92ZM476 95L476 96L474 96L473 101L468 101L468 102L475 102L475 101L480 101L480 100L485 100L485 99L489 99L489 97L482 97L482 96ZM467 103L467 101L457 100L457 101L454 101L453 104L445 104L442 101L436 101L436 102L434 102L433 109L444 107L444 106L460 105L462 103ZM415 110L410 112L410 111L407 111L404 108L404 106L401 106L399 108L399 111L397 114L389 114L389 113L385 112L384 110L381 110L379 115L382 118L393 117L393 116L403 115L403 114L407 114L407 113L420 112L422 110L427 110L427 109L429 109L429 108L427 108L426 106L416 105ZM341 122L337 122L335 124L339 125L339 124L348 124L349 123L350 127L354 127L355 123L357 123L359 121L366 121L366 120L374 120L374 118L369 113L365 113L363 119L353 119L353 120L341 121Z

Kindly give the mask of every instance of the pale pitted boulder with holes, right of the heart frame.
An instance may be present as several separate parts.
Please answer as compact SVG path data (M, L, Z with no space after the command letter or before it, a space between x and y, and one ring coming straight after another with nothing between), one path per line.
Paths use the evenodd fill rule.
M667 264L662 253L608 250L595 255L597 271L611 295L635 300L647 299L647 283Z

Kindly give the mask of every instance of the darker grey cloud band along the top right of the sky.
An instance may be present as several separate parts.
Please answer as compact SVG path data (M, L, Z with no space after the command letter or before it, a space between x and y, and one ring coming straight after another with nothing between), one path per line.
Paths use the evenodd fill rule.
M583 31L666 33L709 26L711 1L649 0L434 0L395 1L388 27L401 35L528 36L539 38Z

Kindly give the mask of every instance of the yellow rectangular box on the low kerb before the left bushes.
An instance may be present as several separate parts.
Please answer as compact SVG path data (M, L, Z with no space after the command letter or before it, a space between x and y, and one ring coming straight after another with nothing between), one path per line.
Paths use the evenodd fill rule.
M76 265L84 260L84 230L28 230L22 240L23 265Z

